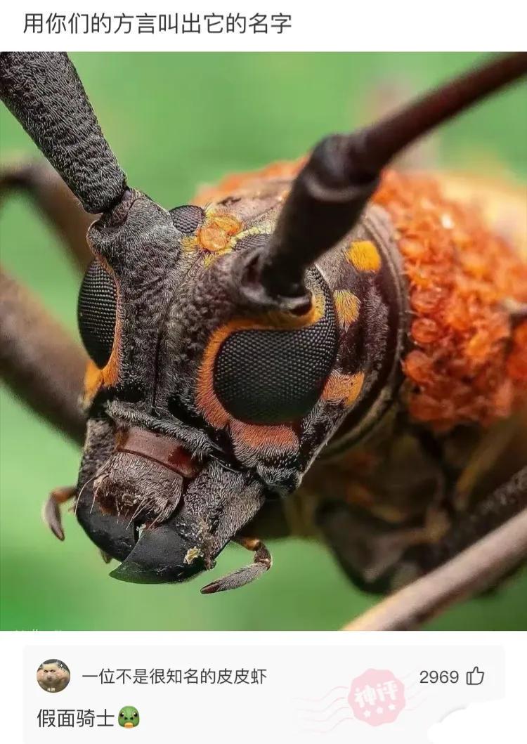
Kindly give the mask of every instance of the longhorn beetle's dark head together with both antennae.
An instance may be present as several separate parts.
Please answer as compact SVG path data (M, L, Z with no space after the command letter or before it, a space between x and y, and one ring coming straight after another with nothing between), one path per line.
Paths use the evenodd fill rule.
M394 251L351 257L357 323L345 343L327 251L345 236L370 246L375 228L361 216L383 167L520 77L527 55L498 57L367 129L325 139L283 205L261 196L171 211L127 187L66 55L7 57L34 83L23 100L16 86L4 93L7 105L86 210L102 213L78 304L91 362L77 519L121 561L112 576L138 583L188 579L241 539L255 562L202 591L242 586L270 565L243 528L266 500L296 490L345 418L363 431L397 386L406 307ZM42 133L42 106L55 136Z

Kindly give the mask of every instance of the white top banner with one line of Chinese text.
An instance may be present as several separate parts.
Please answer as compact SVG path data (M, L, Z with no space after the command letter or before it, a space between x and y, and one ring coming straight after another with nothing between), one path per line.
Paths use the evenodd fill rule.
M7 51L518 51L518 0L4 3Z

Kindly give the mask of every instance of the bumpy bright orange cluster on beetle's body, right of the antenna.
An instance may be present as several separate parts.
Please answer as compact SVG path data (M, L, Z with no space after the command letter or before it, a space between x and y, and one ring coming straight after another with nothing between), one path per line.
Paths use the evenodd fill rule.
M527 302L527 264L431 176L388 171L374 202L409 280L410 413L438 430L508 416L527 398L527 322L513 330L506 305Z

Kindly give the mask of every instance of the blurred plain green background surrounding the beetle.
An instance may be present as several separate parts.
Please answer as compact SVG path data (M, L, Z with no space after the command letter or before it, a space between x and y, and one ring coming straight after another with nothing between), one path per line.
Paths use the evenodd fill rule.
M463 70L474 54L73 54L103 132L130 184L167 208L231 171L296 158L329 132L364 124L371 94L407 92ZM511 89L441 129L442 166L527 175L527 97ZM2 159L35 155L2 107ZM1 259L77 333L79 278L54 234L22 197L0 217ZM1 391L1 627L79 630L337 629L374 599L351 586L321 545L269 543L270 574L203 597L185 586L112 580L66 513L61 544L40 520L42 500L77 478L80 453ZM214 575L241 565L227 548ZM208 580L209 577L207 577ZM457 606L430 629L526 629L527 573L491 597Z

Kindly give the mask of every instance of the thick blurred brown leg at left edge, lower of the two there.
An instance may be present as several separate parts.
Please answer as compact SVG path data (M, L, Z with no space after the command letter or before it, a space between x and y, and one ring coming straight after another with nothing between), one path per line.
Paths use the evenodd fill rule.
M0 376L36 413L82 442L86 353L36 298L0 269Z

